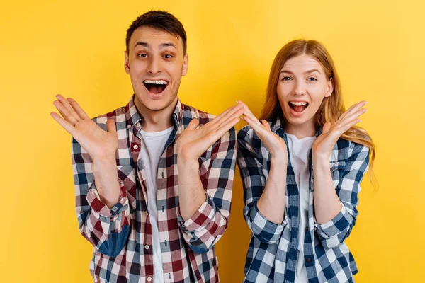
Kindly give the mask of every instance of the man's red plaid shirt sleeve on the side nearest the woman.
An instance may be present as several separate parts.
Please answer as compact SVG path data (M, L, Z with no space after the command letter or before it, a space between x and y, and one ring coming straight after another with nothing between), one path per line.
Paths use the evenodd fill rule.
M200 180L205 202L186 221L179 215L183 238L195 253L210 250L227 229L232 200L237 140L232 127L212 146L210 156L200 158Z

